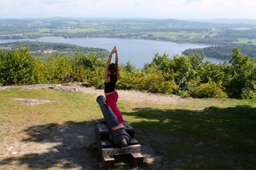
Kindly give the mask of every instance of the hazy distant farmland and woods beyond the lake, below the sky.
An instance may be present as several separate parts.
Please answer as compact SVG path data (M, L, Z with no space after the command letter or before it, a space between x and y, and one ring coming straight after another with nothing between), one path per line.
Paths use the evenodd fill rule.
M0 39L44 36L111 37L167 40L177 43L230 44L254 38L253 23L209 23L177 19L45 18L0 20ZM243 42L242 42L243 43ZM247 41L245 42L247 43ZM254 42L253 42L254 43Z

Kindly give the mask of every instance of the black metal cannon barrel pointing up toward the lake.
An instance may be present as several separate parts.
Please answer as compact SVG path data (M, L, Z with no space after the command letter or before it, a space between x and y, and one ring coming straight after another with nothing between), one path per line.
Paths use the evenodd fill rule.
M103 95L99 95L96 101L98 102L100 109L103 113L108 129L112 135L114 145L116 147L127 146L131 140L131 137L123 128L117 129L117 130L112 129L113 127L117 126L119 123L117 121L116 115L113 113L111 108L104 104L105 97Z

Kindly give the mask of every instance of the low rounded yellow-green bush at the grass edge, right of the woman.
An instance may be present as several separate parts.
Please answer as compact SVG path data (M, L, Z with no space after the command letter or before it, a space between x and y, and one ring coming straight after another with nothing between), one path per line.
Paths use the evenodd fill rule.
M223 91L225 88L222 86L222 82L216 83L213 81L202 83L198 87L195 87L190 95L192 97L207 97L207 98L226 98L227 94Z

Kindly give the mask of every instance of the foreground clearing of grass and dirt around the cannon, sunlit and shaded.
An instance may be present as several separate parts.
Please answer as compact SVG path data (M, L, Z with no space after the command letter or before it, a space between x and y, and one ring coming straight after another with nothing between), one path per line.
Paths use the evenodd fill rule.
M97 169L93 120L103 116L95 95L18 88L0 90L0 95L0 169ZM15 97L54 102L27 105ZM145 155L138 169L256 167L255 101L124 99L117 104Z

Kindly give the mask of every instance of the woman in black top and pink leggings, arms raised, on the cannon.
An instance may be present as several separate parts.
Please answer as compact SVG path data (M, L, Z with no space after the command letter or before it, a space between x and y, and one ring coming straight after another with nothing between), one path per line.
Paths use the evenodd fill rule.
M113 53L115 53L115 63L110 64ZM117 126L112 128L113 130L123 128L122 114L116 105L118 93L115 91L115 83L119 78L119 76L120 74L119 74L119 67L118 67L118 55L117 55L116 46L114 46L113 50L109 54L105 71L104 71L104 84L105 84L104 92L106 96L106 101L104 104L106 106L110 106L111 110L116 115L117 121L119 123Z

